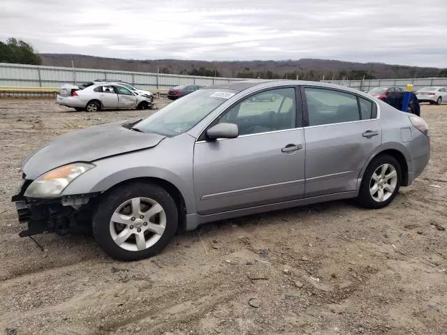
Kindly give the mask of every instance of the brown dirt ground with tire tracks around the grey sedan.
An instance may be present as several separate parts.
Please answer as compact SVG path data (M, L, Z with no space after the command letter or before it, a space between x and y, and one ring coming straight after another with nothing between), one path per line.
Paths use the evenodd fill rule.
M150 111L0 100L0 332L447 334L447 105L422 111L430 164L389 207L339 201L212 223L124 263L92 237L37 235L43 250L21 239L10 196L29 151Z

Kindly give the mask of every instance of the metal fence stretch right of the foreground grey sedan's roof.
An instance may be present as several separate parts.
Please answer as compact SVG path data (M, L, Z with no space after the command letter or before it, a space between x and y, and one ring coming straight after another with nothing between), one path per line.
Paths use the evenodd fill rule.
M413 84L413 91L427 86L447 87L447 77L445 78L413 78L413 79L372 79L372 80L323 80L331 84L352 87L360 91L369 91L375 87L406 87L407 84Z

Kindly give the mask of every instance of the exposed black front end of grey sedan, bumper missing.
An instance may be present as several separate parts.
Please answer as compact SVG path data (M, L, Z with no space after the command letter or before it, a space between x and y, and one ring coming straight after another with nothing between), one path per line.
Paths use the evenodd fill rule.
M33 199L24 196L31 183L31 180L24 179L19 192L11 199L15 202L19 222L27 224L27 229L19 233L20 237L43 232L55 232L63 236L91 230L92 208L98 193Z

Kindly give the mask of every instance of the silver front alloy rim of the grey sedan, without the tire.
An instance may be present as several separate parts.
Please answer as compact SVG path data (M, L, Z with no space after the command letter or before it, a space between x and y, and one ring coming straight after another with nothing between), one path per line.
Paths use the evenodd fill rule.
M110 218L110 236L127 251L150 248L166 229L166 213L161 204L150 198L123 202Z

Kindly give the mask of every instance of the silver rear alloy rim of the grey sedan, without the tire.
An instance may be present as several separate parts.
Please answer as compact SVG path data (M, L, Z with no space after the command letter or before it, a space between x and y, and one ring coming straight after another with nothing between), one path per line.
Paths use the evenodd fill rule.
M380 165L369 181L369 193L376 202L388 200L397 185L397 171L391 164Z

